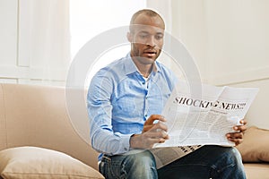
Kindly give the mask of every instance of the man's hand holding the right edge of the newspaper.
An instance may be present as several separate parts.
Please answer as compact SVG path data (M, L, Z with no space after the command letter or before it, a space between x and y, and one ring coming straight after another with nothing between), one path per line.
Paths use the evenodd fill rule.
M236 132L226 134L227 139L234 142L236 145L242 143L244 132L247 130L247 122L244 119L240 121L240 124L242 125L236 125L233 127Z

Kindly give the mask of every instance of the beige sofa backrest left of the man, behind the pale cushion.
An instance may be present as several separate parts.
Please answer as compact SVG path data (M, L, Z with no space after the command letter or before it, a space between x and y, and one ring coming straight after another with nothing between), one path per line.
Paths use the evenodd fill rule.
M67 108L69 99L62 87L0 86L0 150L20 146L55 149L98 169L99 154L91 148L86 103L85 107ZM74 98L82 93L73 92Z

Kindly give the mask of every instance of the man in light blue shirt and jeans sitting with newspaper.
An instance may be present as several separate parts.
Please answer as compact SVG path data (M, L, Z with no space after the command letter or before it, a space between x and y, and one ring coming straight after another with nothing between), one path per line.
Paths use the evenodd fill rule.
M134 13L127 38L131 52L101 69L91 80L88 113L91 144L99 151L100 173L106 178L245 178L239 152L234 148L204 146L184 158L156 169L153 144L169 139L161 116L177 81L157 62L165 23L158 13ZM153 123L155 120L159 123ZM239 144L246 122L227 134Z

